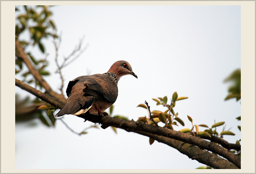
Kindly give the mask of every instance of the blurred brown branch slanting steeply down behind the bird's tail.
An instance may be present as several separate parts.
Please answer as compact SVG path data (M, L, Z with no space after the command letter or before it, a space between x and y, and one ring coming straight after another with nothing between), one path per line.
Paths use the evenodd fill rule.
M30 63L30 61L28 60L28 57L26 55L26 53L24 52L20 42L18 40L15 40L15 48L18 50L19 54L16 54L16 56L18 56L19 58L21 58L23 60L23 62L26 64L26 66L28 67L29 71L31 72L31 74L34 76L34 78L36 78L36 80L38 80L38 82L40 84L42 84L42 86L44 87L44 89L46 90L47 94L49 94L50 96L57 98L58 100L60 100L61 102L66 103L66 98L64 97L64 95L60 95L56 92L54 92L50 86L48 85L48 83L42 78L42 76L39 74L39 72L37 70L34 69L34 67L32 66L32 64Z

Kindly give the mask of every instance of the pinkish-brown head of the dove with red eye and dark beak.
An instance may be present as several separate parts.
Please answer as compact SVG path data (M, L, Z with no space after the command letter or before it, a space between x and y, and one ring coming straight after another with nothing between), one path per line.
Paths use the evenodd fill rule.
M132 66L124 60L119 60L119 61L115 62L110 67L108 72L113 72L114 74L116 74L117 82L119 81L119 79L122 76L125 76L125 75L128 75L128 74L131 74L132 76L138 78L138 76L132 71Z

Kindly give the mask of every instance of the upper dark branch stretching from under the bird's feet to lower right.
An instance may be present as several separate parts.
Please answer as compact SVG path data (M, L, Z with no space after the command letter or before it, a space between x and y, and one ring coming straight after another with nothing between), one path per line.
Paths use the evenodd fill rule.
M102 128L107 128L108 126L115 126L117 128L121 128L124 130L129 129L132 132L136 132L136 131L148 132L151 134L156 134L159 136L164 136L164 137L172 138L175 140L180 140L188 144L193 144L195 146L198 146L206 150L210 150L211 152L214 152L220 156L223 156L228 161L238 166L238 168L241 168L241 158L239 156L237 156L233 152L221 146L218 146L217 144L208 142L199 137L191 136L189 134L184 134L182 132L170 130L167 128L162 128L160 126L153 126L150 124L146 124L144 122L128 121L128 120L113 118L109 116L99 117L91 114L90 115L82 114L82 115L79 115L79 117L89 120L91 122L100 123L102 124L101 126Z

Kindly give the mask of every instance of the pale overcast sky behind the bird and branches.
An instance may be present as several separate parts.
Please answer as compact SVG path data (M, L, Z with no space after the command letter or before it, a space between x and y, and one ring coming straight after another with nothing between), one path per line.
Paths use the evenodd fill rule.
M240 102L224 101L229 84L223 80L241 68L241 8L240 6L54 6L52 20L62 32L60 58L72 52L78 40L85 36L87 50L63 69L64 91L70 80L82 75L104 73L118 60L128 61L138 79L124 76L118 82L118 98L114 115L129 120L147 115L136 108L146 100L151 110L166 110L156 106L152 98L189 97L176 102L175 112L185 126L226 122L226 130L236 136L224 136L235 143L240 139ZM25 36L24 36L25 37ZM54 72L54 47L45 40L49 52L48 70ZM42 58L38 52L35 57ZM18 77L17 77L18 78ZM58 74L46 78L58 91ZM16 92L22 92L16 87ZM57 112L56 112L57 113ZM64 121L75 131L92 125L73 115ZM37 122L37 121L36 121ZM30 123L31 124L31 123ZM200 127L200 131L204 128ZM222 127L217 128L218 132ZM194 169L204 166L176 149L154 142L148 137L111 128L90 129L77 136L59 120L56 128L40 124L16 124L16 169Z

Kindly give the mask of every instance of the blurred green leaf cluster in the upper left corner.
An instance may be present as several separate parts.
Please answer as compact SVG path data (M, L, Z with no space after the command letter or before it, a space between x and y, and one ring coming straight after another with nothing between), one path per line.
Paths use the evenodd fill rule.
M19 40L22 45L26 55L30 59L32 66L39 72L41 76L50 75L50 72L46 70L48 66L48 62L46 60L48 54L45 55L44 58L40 58L37 60L31 52L26 51L28 46L38 46L40 51L44 54L45 48L42 44L42 40L44 38L48 38L48 36L52 36L53 38L58 38L56 34L53 34L52 30L55 30L55 24L52 20L50 20L50 16L52 12L49 10L49 6L22 6L24 8L24 13L21 13L19 8L16 8L16 12L21 13L16 16L16 26L15 26L15 39ZM20 40L20 34L27 31L30 34L30 40ZM31 76L31 72L29 70L25 70L23 68L24 61L19 56L20 53L18 50L16 51L15 56L15 74L22 73L22 77L24 78L22 81L28 84L35 83L36 86L39 86L42 89L42 85L38 83ZM24 71L22 71L22 68Z

